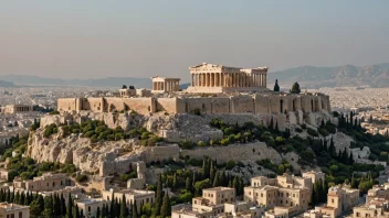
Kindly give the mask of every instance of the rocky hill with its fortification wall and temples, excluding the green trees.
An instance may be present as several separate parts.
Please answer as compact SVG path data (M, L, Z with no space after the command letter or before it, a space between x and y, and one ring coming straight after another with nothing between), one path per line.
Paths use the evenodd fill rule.
M123 86L119 97L59 99L60 115L41 119L41 128L30 134L27 155L36 162L73 163L82 171L98 172L101 176L125 173L128 164L136 161L155 163L182 156L202 159L204 155L212 156L218 163L232 160L253 164L253 171L246 172L250 175L261 174L254 167L259 160L271 160L276 164L286 160L298 171L296 153L281 154L264 141L249 140L244 145L233 141L225 143L225 132L212 127L211 122L220 119L240 127L253 123L259 128L287 129L292 135L304 139L307 138L306 130L295 130L301 129L299 126L316 129L323 121L337 122L329 113L329 97L326 95L267 89L267 67L246 69L204 63L189 69L191 86L186 90L179 90L179 78L155 76L151 78L153 90ZM125 132L144 128L162 142L147 144L147 139L141 135L103 139L106 137L104 132L86 130L91 127L82 126L85 121L104 121L107 128L120 127ZM64 133L64 128L81 128L75 123L82 126L81 132ZM46 127L51 124L59 128L57 133L45 135ZM95 142L88 139L88 131L98 137ZM335 133L333 137L337 148L349 146L350 139L345 134ZM188 149L182 143L200 145ZM213 145L203 148L201 144L206 143ZM153 181L155 173L148 175L147 179Z

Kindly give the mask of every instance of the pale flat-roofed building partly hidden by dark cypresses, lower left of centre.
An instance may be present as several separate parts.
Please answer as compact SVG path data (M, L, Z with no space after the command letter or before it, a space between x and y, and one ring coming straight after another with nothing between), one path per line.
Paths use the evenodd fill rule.
M112 200L112 197L117 198L120 200L123 198L123 195L126 196L127 200L127 206L130 204L136 204L138 211L140 211L141 205L145 205L147 203L155 203L155 192L153 190L139 190L139 189L122 189L114 192L114 189L111 190L104 190L103 192L103 199L109 201Z

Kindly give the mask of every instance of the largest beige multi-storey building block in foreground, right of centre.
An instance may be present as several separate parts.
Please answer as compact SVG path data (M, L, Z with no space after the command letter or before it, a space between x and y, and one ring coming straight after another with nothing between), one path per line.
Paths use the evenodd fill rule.
M311 200L312 181L284 174L276 178L253 177L251 186L244 187L244 200L266 208L277 208L278 214L294 215L305 211ZM277 212L267 216L277 216Z

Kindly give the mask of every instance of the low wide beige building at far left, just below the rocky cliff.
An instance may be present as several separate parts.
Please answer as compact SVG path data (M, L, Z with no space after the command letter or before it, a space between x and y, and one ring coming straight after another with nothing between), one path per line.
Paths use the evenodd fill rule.
M66 174L52 174L45 173L42 176L34 177L33 179L22 181L20 177L13 179L14 188L25 189L31 192L52 192L72 186L72 181Z

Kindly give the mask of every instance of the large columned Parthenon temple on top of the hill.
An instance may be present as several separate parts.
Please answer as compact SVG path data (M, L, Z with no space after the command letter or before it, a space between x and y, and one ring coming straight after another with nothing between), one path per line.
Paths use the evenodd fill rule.
M188 92L251 91L266 88L267 67L238 68L203 63L189 67Z

